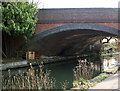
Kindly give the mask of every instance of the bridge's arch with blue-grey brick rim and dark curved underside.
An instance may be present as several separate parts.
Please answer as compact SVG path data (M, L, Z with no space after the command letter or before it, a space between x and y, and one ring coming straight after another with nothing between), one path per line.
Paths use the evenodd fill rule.
M90 23L68 24L37 34L26 45L45 55L76 55L106 36L118 36L118 30Z

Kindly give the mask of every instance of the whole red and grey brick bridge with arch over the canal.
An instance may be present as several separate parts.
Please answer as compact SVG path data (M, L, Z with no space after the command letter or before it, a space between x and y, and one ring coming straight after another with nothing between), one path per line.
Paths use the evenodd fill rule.
M42 9L27 49L43 55L79 55L107 36L119 37L118 9Z

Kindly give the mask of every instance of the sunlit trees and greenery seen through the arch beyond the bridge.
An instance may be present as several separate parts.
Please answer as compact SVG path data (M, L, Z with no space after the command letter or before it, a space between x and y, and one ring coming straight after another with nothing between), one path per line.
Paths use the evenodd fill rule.
M98 56L106 53L119 52L119 49L118 38L106 37L87 46L82 54L87 54L88 56Z

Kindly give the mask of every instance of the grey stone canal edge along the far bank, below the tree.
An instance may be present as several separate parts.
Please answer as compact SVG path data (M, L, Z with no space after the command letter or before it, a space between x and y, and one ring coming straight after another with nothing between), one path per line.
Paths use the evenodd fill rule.
M0 70L28 67L30 63L32 63L33 66L38 65L40 63L43 64L63 63L63 62L69 62L71 60L77 60L78 58L79 57L67 57L67 58L60 57L60 58L41 58L35 60L22 60L19 62L10 62L10 63L1 64Z

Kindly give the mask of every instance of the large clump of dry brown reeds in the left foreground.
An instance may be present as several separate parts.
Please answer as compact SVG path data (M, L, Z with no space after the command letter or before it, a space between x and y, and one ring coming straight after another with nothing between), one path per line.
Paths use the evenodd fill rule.
M30 69L26 73L20 73L6 79L2 78L2 89L54 89L55 79L50 78L50 70L44 70L43 63L39 64L38 70L34 70L30 63ZM36 74L39 73L39 74Z

